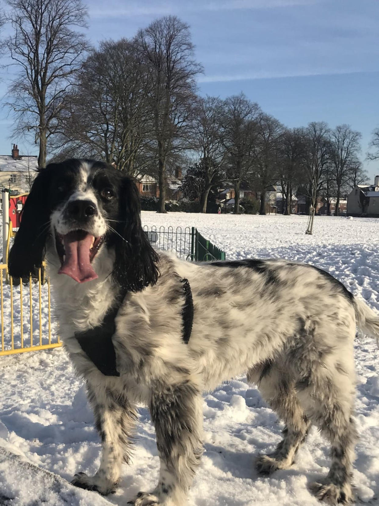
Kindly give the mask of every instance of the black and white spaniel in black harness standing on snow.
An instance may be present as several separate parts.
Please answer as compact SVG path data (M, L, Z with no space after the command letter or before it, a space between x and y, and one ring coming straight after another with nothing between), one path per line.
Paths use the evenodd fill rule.
M28 276L46 255L60 335L87 383L102 458L72 483L114 491L137 402L150 409L160 474L136 506L183 506L202 453L202 392L247 372L285 423L257 469L291 466L311 424L331 444L328 475L312 490L352 500L353 340L379 319L337 280L280 260L182 262L150 246L131 178L94 160L51 164L36 177L9 258ZM87 281L85 283L85 281Z

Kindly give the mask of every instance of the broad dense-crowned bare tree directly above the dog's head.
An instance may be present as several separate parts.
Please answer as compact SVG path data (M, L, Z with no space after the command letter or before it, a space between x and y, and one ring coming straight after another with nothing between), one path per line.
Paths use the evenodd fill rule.
M77 73L58 143L67 153L85 151L133 174L151 133L146 68L136 44L106 41ZM58 145L59 145L58 144Z

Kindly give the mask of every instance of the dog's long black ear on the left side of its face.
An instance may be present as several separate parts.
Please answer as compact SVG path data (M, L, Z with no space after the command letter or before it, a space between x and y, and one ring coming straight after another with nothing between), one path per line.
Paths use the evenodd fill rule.
M46 239L50 234L49 181L48 168L41 169L34 179L9 254L8 269L11 276L29 276L44 259Z

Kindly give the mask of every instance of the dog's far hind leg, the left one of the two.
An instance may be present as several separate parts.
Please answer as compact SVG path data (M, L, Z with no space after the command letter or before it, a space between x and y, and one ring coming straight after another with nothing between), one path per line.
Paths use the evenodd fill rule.
M310 426L290 378L283 369L270 361L247 373L249 383L258 385L263 398L285 423L283 439L275 451L269 455L259 455L256 459L257 471L262 474L288 469L305 441Z

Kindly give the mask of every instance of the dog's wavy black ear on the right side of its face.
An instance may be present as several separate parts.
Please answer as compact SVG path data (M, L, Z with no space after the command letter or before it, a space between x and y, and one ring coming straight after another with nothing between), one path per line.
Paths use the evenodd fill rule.
M141 291L154 285L159 276L159 257L141 225L141 204L137 186L125 176L119 195L119 223L114 235L116 259L113 279L124 289Z

